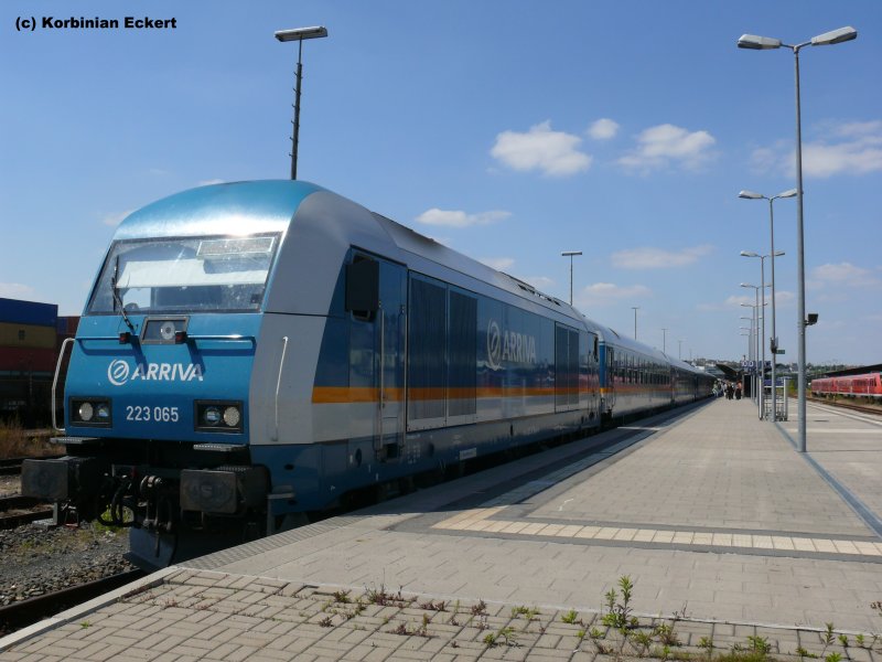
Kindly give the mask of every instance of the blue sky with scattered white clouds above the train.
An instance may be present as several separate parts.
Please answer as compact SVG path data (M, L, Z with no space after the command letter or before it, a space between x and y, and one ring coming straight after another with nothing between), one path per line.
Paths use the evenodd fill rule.
M116 30L44 18L117 19ZM126 17L175 28L125 29ZM18 30L36 20L33 31ZM6 0L0 297L79 314L115 227L172 193L298 174L684 359L741 360L796 186L808 363L882 363L878 0ZM776 330L797 354L796 199L774 202ZM771 290L767 288L771 309ZM637 308L635 311L634 308ZM771 310L766 337L771 335Z

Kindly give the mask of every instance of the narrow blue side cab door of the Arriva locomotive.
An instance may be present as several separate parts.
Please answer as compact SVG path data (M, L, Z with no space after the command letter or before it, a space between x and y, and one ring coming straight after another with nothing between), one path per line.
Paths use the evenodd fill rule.
M375 318L377 348L377 419L374 449L380 460L396 459L405 428L405 297L407 279L398 265L379 261L379 309Z

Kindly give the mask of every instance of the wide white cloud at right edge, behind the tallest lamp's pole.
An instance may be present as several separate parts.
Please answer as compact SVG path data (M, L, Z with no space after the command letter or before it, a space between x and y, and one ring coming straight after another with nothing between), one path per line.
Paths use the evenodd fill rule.
M803 174L828 178L837 174L867 174L882 171L882 120L826 122L825 136L803 142ZM753 151L754 170L793 177L796 156L793 142L778 141Z

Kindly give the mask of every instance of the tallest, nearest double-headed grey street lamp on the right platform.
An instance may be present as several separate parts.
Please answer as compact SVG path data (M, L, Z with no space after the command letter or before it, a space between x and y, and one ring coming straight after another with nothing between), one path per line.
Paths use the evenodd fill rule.
M840 44L851 41L858 36L858 31L850 25L825 32L811 40L800 44L784 44L779 39L768 36L757 36L755 34L742 34L738 40L739 49L750 49L754 51L765 51L768 49L779 49L784 46L793 51L794 72L796 78L796 253L797 253L797 281L799 293L797 296L797 338L799 341L797 364L799 370L799 391L797 393L797 408L799 417L799 434L797 439L797 450L806 451L806 269L805 249L803 245L803 128L799 108L799 50L805 46L826 46Z

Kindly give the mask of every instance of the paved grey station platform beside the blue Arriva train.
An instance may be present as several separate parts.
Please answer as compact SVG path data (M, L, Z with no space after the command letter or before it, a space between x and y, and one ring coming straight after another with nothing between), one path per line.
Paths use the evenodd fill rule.
M809 404L806 453L796 427L647 418L166 568L0 661L882 660L882 420Z

